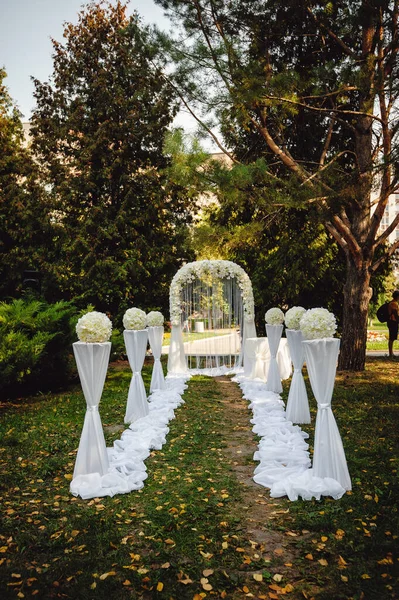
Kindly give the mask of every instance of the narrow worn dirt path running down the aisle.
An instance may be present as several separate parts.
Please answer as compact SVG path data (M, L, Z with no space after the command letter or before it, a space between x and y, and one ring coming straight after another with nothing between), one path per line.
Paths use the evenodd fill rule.
M226 459L241 484L244 511L244 537L248 539L248 555L254 565L264 562L264 569L270 572L270 578L263 580L259 586L258 598L280 598L289 594L289 598L311 598L295 593L295 584L301 579L300 570L296 566L298 538L309 532L291 531L289 524L289 505L279 499L270 498L269 490L256 484L252 477L256 462L253 454L257 449L257 438L252 432L250 423L251 411L248 402L242 398L238 385L230 377L215 378L221 392L221 401L225 406L225 429L227 447L224 449ZM284 523L284 530L275 527ZM282 528L281 528L282 529ZM248 573L253 578L254 570ZM277 577L276 577L277 575ZM279 583L280 577L284 583ZM276 577L274 579L274 577ZM287 581L291 582L288 583ZM253 582L253 579L252 579ZM292 585L293 584L293 585ZM292 589L291 589L292 585ZM242 596L241 596L242 597ZM237 596L238 598L238 596Z

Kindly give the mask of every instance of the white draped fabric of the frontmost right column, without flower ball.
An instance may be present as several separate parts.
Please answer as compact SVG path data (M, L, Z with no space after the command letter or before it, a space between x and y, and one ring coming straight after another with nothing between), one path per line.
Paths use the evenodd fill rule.
M345 490L350 490L352 484L345 452L331 410L340 340L306 340L303 346L310 383L317 400L313 474L335 479Z

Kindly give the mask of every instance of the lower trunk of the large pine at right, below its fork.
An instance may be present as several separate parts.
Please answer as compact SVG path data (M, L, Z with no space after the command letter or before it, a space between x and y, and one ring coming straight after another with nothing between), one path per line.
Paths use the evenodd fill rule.
M366 360L367 317L372 289L367 264L359 269L347 259L344 286L342 344L338 369L363 371Z

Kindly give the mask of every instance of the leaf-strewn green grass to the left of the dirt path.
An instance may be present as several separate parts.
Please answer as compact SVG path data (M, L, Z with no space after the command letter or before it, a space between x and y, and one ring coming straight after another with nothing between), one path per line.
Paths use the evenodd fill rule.
M148 369L144 375L148 386ZM100 404L105 431L109 425L123 429L130 377L128 369L110 370ZM92 501L69 494L84 411L79 390L4 410L2 598L60 592L119 599L149 591L155 598L192 598L192 586L179 580L196 581L201 592L202 571L215 567L221 554L225 568L239 564L239 537L222 548L226 534L236 533L235 519L226 519L240 492L222 455L222 409L213 380L192 382L168 444L147 461L149 477L136 493ZM107 445L115 437L106 432ZM160 582L164 592L156 591ZM227 593L235 583L218 572L213 586Z

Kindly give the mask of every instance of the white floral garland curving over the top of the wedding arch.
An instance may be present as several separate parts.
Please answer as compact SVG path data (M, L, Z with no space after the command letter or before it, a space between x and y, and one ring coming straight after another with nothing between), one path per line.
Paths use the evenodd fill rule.
M252 284L244 269L230 260L198 260L184 265L172 279L169 293L172 325L180 325L181 322L181 290L183 285L195 279L203 279L206 276L211 276L213 279L237 279L238 287L241 290L244 319L251 321L254 318Z

